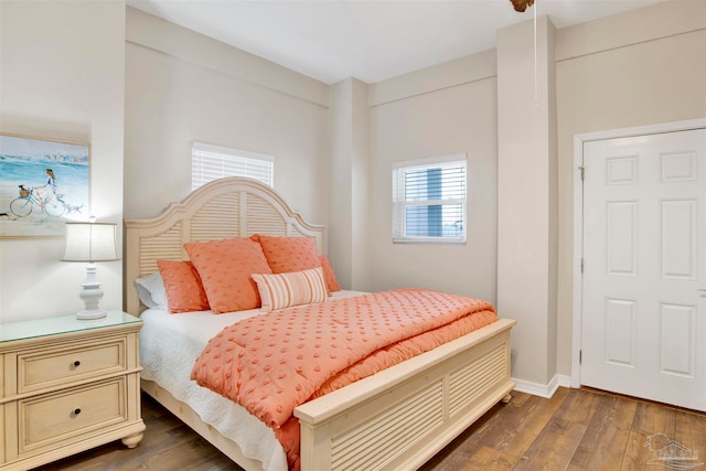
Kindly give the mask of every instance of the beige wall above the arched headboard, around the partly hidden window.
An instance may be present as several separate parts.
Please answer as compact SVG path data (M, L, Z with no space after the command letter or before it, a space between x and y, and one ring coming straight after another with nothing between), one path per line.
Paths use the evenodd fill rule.
M275 156L275 189L328 223L325 84L132 8L125 47L125 217L190 193L196 140Z

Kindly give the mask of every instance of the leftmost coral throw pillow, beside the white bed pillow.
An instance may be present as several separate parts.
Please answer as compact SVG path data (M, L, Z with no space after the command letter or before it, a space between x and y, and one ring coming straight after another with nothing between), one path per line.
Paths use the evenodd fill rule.
M205 311L208 299L196 269L189 260L157 260L164 280L169 312Z

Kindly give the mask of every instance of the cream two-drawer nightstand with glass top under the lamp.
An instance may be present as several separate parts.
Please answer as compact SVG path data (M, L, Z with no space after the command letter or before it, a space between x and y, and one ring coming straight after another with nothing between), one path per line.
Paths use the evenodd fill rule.
M120 311L0 324L0 470L139 443L141 327Z

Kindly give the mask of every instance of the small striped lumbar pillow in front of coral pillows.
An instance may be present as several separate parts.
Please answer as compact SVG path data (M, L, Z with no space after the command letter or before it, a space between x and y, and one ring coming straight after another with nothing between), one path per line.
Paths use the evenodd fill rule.
M321 267L289 274L254 274L253 279L260 293L263 311L323 302L328 296Z

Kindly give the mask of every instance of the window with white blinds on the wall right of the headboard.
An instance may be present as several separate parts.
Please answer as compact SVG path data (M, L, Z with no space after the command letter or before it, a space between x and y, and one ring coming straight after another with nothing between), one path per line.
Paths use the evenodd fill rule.
M393 164L393 242L466 242L466 154Z

